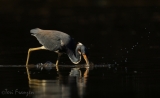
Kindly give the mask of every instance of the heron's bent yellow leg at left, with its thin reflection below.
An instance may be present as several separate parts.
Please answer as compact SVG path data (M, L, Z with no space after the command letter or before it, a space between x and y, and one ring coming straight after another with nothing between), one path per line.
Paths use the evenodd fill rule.
M31 80L30 79L30 74L29 74L29 69L28 69L28 61L29 61L29 57L30 57L30 52L35 51L35 50L40 50L40 49L46 49L46 48L44 46L42 46L42 47L37 47L37 48L30 48L28 50L27 61L26 61L26 69L27 69L27 74L28 74L29 81Z

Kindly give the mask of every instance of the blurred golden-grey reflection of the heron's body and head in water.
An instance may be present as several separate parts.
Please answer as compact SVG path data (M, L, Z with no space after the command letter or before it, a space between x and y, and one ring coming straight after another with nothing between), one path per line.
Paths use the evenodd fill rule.
M71 68L67 76L57 72L57 78L53 80L30 79L29 86L35 92L33 98L82 98L88 74L89 68Z

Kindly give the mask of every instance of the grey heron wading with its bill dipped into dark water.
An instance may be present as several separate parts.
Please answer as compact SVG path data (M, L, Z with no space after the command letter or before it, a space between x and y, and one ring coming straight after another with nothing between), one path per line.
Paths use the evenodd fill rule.
M58 63L62 54L67 54L72 63L78 64L81 61L81 55L83 55L86 65L89 66L89 60L87 55L87 48L80 42L75 44L73 38L67 33L58 30L43 30L40 28L31 29L30 33L35 36L41 47L29 48L26 65L28 65L30 52L36 50L50 50L58 54L56 61L56 69L58 69Z

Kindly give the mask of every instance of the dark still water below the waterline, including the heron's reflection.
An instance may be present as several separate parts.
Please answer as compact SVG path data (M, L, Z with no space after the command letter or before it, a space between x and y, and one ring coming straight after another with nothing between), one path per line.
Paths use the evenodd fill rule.
M159 94L160 67L120 65L0 66L2 98L151 98ZM31 80L28 81L28 76Z

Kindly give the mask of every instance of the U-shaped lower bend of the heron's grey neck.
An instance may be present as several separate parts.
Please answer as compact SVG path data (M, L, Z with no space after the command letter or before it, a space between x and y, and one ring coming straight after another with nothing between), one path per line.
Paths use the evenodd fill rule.
M69 59L72 61L72 63L74 64L78 64L81 61L81 53L78 52L77 50L75 50L75 53L74 53L74 51L68 49L67 55Z

